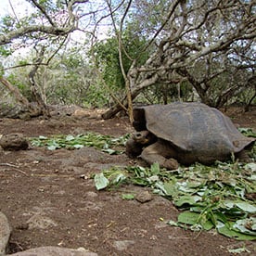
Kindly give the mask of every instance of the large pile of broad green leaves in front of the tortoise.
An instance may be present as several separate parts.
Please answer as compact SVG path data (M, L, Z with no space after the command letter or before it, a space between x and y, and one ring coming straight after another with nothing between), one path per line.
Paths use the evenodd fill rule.
M96 188L134 184L173 200L183 210L169 224L192 230L211 230L241 240L256 239L256 164L216 163L180 168L174 172L140 166L113 168L95 175ZM129 195L128 198L134 198Z

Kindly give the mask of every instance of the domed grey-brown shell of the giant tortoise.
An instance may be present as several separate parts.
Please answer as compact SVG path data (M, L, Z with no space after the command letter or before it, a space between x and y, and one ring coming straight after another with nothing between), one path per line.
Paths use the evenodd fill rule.
M134 108L134 129L147 130L181 152L200 159L237 153L255 138L241 134L230 118L202 103L175 102Z

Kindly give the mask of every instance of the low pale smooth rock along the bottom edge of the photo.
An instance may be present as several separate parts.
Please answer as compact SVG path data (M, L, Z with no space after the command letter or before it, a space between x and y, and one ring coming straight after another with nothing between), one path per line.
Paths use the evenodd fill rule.
M95 252L79 249L69 249L60 247L38 247L30 250L19 251L12 256L97 256Z

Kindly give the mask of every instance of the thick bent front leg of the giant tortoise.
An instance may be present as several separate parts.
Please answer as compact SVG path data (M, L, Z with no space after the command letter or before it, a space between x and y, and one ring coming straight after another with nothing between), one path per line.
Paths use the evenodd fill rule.
M146 147L140 157L147 161L148 164L153 164L154 162L158 162L160 167L166 168L168 170L175 170L179 167L179 163L177 160L174 160L174 151L173 156L170 155L170 151L172 149L167 147L160 142L156 142L148 147ZM168 155L166 154L168 152Z

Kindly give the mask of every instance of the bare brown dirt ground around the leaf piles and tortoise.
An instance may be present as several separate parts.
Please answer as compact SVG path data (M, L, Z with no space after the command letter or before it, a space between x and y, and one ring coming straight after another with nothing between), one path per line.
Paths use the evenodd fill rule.
M228 109L240 127L256 129L256 109L244 113ZM108 121L61 114L51 119L0 120L0 134L33 137L93 131L120 136L133 131L127 118ZM50 151L30 147L16 152L0 149L0 211L11 226L9 253L39 246L85 248L98 255L233 255L245 248L256 253L256 243L237 241L215 232L192 232L166 224L178 210L170 200L153 195L141 203L122 199L146 187L122 186L96 191L90 174L111 166L135 164L124 154L111 156L93 147ZM254 254L255 255L255 254Z

